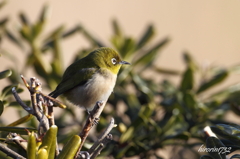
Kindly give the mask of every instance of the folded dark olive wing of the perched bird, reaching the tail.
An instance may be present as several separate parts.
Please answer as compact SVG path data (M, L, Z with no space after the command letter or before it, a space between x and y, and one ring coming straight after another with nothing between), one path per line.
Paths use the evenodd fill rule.
M74 65L71 67L74 67ZM71 90L78 85L84 85L87 80L91 79L93 74L97 71L97 68L83 68L76 71L77 69L79 68L68 68L63 75L62 81L49 95L56 98L57 96L63 94L68 90Z

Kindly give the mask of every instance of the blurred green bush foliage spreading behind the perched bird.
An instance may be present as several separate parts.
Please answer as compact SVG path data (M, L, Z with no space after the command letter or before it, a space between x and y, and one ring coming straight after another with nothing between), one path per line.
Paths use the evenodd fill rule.
M23 54L26 59L24 64L26 67L20 72L24 74L29 68L33 68L36 76L43 82L44 91L45 88L53 90L63 74L61 42L64 42L65 38L81 34L90 43L88 48L79 49L75 60L97 47L106 46L80 24L69 30L60 26L53 30L47 38L41 39L40 35L43 34L46 25L47 9L47 6L43 7L40 17L35 23L30 23L27 16L20 13L21 28L17 32L11 32L8 29L8 18L2 18L0 21L1 39L10 40L24 53L26 46L30 49L29 53ZM120 70L114 94L108 100L107 109L101 114L97 125L97 132L102 132L112 117L118 124L118 127L111 131L113 141L107 145L100 156L105 156L103 158L106 156L109 158L130 156L161 158L158 153L159 149L164 149L166 146L178 146L180 147L178 152L190 150L191 158L199 158L201 154L196 149L204 143L203 128L207 125L224 123L223 117L227 111L233 110L237 115L240 114L237 106L239 85L208 93L239 67L209 67L207 70L202 70L193 57L185 52L183 60L186 67L183 72L157 68L154 60L169 43L168 37L153 43L152 39L156 34L153 25L146 27L139 39L125 35L116 20L113 20L112 28L112 46L110 47L116 49L122 58L131 62L132 65ZM2 49L1 52L4 56L14 57L7 50ZM45 58L46 54L50 54L54 58L48 60ZM0 73L1 78L8 77L11 82L11 85L2 90L0 112L2 113L6 107L14 106L21 120L18 120L17 124L10 124L11 128L6 128L6 123L1 120L0 130L28 134L28 137L24 138L28 143L31 144L33 141L33 144L36 144L32 139L34 138L32 131L36 131L38 122L28 114L24 116L23 114L26 114L24 110L19 109L18 103L12 99L11 89L13 87L17 88L18 93L23 91L23 88L17 86L20 81L19 71L16 67L17 65ZM152 71L156 76L168 74L180 77L181 82L178 86L168 79L158 83L153 78L144 77L144 73L148 71ZM129 91L130 88L131 91ZM24 102L30 105L30 101ZM65 103L64 100L63 103ZM55 125L58 127L57 140L60 144L68 144L67 141L72 141L73 139L70 138L76 137L74 135L78 134L79 127L82 127L82 125L79 126L82 121L77 116L75 109L68 107L55 118ZM82 116L85 118L85 113ZM25 123L24 128L16 127L22 123ZM24 129L31 132L26 133L27 131ZM96 136L98 135L90 136L87 141L94 140ZM9 141L6 133L2 133L1 137L2 141ZM7 142L7 145L22 156L26 157L28 154L16 143ZM88 148L89 144L85 142L83 150L88 150ZM40 150L41 146L38 153ZM41 153L45 153L45 150L41 151ZM172 156L175 158L189 156L189 154L178 152L172 153Z

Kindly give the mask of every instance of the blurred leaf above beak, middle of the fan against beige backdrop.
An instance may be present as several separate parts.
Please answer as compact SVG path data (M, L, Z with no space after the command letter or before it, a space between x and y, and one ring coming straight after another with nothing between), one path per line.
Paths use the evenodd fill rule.
M149 25L143 36L140 38L136 50L141 49L144 45L146 45L153 38L154 34L155 30L153 25Z

